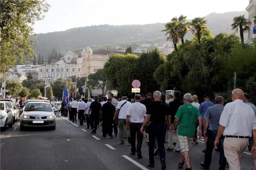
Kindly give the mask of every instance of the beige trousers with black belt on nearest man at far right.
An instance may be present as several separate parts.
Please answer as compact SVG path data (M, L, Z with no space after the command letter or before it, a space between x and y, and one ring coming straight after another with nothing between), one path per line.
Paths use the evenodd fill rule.
M249 139L225 137L223 147L229 170L240 170L240 158L249 144Z

